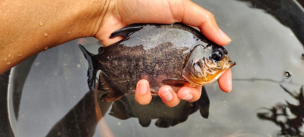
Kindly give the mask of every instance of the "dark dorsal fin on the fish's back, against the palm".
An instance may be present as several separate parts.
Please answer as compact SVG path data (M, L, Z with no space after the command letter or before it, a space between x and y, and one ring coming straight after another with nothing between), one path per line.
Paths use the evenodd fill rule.
M134 32L142 29L146 25L147 24L131 24L131 25L128 25L128 26L123 27L123 28L115 31L114 33L112 33L110 35L110 38L117 37L117 36L127 37L127 36L133 34Z

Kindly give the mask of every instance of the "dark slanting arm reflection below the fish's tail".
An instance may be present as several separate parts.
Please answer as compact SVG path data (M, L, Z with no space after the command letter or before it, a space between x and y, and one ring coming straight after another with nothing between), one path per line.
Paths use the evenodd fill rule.
M59 120L46 137L92 137L98 122L112 102L101 102L101 92L89 91L69 112ZM103 121L103 128L106 123ZM108 135L109 136L109 135ZM111 137L111 136L110 136Z

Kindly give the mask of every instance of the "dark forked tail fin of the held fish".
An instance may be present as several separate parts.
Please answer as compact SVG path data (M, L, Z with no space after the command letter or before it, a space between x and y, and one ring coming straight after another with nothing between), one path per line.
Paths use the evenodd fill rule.
M93 56L94 56L94 54L92 54L89 51L85 50L84 46L82 46L81 44L79 44L79 48L81 49L81 51L83 51L85 59L89 63L89 68L87 69L87 77L88 77L87 84L89 86L89 89L91 91L93 91L94 88L95 88L96 73L97 73L97 70L96 70L96 68L94 68L94 64L93 64Z

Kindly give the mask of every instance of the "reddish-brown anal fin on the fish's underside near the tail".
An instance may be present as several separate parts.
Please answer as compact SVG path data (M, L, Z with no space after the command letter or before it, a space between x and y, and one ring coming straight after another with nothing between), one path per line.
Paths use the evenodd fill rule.
M101 96L102 101L116 101L126 95L121 88L104 72L100 72L98 90L108 91Z

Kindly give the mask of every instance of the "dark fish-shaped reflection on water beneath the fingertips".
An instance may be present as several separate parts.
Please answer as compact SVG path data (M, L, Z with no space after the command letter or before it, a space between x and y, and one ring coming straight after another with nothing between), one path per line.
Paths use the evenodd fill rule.
M203 118L208 118L209 98L204 87L198 101L192 103L181 101L175 107L166 106L158 96L154 96L148 105L138 104L134 96L124 96L113 103L109 114L121 120L138 118L143 127L149 126L152 119L157 119L155 122L157 127L169 127L186 121L188 116L197 110Z

